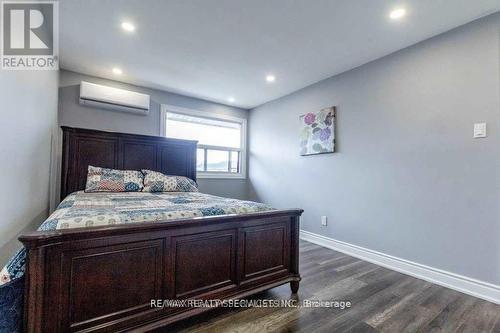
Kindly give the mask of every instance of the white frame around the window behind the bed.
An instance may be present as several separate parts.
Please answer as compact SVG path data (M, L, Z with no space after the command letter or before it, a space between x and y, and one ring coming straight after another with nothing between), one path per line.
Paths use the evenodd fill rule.
M241 125L241 147L240 151L240 172L214 172L214 171L196 171L197 178L218 178L218 179L246 179L247 172L247 120L245 118L233 117L213 112L199 111L183 108L175 105L161 104L160 107L160 135L166 137L167 112L184 114L187 116L207 118L213 120L230 121ZM198 145L198 148L228 150L227 147ZM231 149L238 150L238 149Z

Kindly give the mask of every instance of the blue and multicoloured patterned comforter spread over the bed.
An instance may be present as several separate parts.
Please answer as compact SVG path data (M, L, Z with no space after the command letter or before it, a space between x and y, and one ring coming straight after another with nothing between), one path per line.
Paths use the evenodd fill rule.
M156 222L200 216L244 214L272 210L265 204L217 197L200 192L75 192L64 199L38 230L85 228L134 222ZM26 252L21 249L0 271L0 333L20 317ZM13 290L13 286L17 285ZM17 295L14 297L13 295ZM20 296L19 296L20 295ZM22 298L21 298L22 300ZM20 318L18 318L18 321Z

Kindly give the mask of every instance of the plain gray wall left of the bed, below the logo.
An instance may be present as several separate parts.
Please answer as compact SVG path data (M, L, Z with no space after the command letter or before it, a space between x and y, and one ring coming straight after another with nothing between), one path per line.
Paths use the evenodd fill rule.
M57 121L57 71L0 74L0 267L48 213L51 137Z

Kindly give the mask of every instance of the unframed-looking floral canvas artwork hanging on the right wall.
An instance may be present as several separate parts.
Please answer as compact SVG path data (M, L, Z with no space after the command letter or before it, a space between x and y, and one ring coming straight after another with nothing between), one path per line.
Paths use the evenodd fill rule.
M300 116L300 155L335 152L335 107Z

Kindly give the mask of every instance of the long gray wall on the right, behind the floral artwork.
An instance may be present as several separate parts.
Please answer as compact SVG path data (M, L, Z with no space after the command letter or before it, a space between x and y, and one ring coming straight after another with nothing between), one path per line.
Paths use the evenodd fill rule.
M250 196L304 208L304 230L500 284L499 28L489 16L251 110ZM299 115L332 105L338 152L299 156Z

